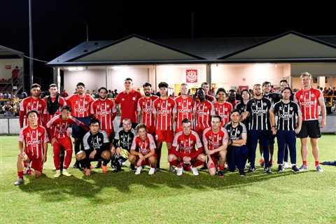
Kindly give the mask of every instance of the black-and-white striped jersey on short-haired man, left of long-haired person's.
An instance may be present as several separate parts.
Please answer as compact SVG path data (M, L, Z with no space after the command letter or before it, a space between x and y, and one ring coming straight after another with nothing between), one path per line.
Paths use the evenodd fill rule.
M250 113L248 130L271 130L269 122L269 109L272 103L269 99L250 99L246 105L246 111Z

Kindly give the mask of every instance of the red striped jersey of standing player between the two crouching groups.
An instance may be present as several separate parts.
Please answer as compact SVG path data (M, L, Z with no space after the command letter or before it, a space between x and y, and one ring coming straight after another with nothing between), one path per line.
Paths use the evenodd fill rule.
M172 114L176 111L176 102L168 97L167 99L155 99L153 102L153 113L156 114L156 130L173 130Z

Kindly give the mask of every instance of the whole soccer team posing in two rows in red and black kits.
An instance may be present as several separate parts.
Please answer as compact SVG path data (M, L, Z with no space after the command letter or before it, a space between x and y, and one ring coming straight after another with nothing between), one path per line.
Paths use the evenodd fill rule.
M66 98L51 84L50 95L41 99L41 85L33 84L31 96L20 104L18 179L14 185L24 183L25 175L41 176L48 144L52 146L55 178L71 176L68 168L73 151L73 167L85 176L92 174L92 161L97 161L96 168L104 174L109 167L122 171L129 161L134 174L149 167L148 174L153 175L160 170L164 142L169 172L177 176L184 172L197 176L199 169L220 178L236 170L240 176L254 173L258 144L258 162L263 172L272 174L275 142L277 172L286 168L304 172L308 170L308 139L314 169L321 173L318 139L325 126L323 94L311 86L310 73L301 73L300 79L302 89L295 93L286 80L281 80L279 92L271 91L271 83L264 82L253 85L251 92L241 90L240 99L230 102L224 88L218 88L216 97L209 94L208 83L202 83L194 95L182 83L178 97L168 95L165 82L159 83L158 96L153 94L151 83L144 83L142 96L133 90L132 79L126 78L125 90L115 99L107 98L106 87L99 88L99 98L93 99L85 93L84 83L78 83L76 93ZM121 118L115 130L117 106ZM300 167L297 138L301 142Z

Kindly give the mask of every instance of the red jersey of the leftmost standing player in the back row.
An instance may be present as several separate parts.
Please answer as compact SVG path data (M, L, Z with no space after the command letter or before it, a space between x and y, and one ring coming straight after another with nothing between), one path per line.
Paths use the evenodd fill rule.
M45 110L45 102L43 99L34 99L33 97L27 97L22 100L20 103L20 128L24 126L24 120L25 125L28 125L27 123L27 113L29 111L37 111L38 113L38 125L43 125L43 113Z

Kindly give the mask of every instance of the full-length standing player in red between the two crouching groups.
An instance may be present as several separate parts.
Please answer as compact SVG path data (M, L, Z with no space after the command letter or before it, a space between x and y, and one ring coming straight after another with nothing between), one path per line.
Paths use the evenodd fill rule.
M155 138L158 142L156 154L157 168L160 169L160 158L162 143L165 141L168 151L172 148L174 139L173 125L176 118L176 102L168 97L168 84L165 82L159 83L160 98L153 102L153 113L156 123Z

